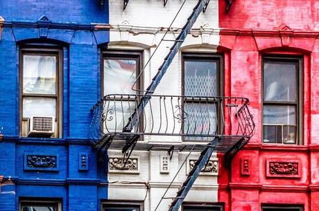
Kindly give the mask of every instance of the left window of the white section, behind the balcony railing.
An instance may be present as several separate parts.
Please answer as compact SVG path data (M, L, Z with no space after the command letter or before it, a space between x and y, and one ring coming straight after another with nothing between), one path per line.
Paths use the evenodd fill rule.
M138 98L134 95L142 88L142 75L138 78L141 70L142 53L139 51L106 51L103 53L102 95L117 94L116 98L107 106L107 111L115 113L116 120L108 122L107 129L122 131L128 119L138 104ZM135 83L135 80L137 82ZM134 86L133 86L134 85ZM123 98L121 98L123 94ZM140 128L142 124L140 124Z

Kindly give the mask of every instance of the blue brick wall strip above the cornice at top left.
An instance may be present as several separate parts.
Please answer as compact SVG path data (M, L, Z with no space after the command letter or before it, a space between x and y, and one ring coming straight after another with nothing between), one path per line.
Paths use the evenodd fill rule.
M78 24L108 23L108 3L98 0L3 0L0 15L7 21L34 21L46 15L52 21Z

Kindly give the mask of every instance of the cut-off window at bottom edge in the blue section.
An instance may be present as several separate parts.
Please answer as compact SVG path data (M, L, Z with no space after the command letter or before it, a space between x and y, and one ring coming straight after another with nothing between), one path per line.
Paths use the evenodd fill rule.
M20 201L19 211L62 211L60 201Z

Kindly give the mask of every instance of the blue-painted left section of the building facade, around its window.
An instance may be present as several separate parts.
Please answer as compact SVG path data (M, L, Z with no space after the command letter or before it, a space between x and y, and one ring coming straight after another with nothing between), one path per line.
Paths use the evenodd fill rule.
M101 47L109 40L107 30L94 26L108 23L108 3L101 8L97 0L0 1L0 16L0 210L19 210L24 201L100 210L107 176L90 145L89 124L90 109L101 97ZM57 138L21 135L26 46L61 52Z

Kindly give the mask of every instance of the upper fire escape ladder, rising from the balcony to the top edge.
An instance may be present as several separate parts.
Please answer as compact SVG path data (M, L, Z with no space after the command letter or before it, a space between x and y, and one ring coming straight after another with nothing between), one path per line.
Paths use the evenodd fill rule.
M143 112L144 108L146 107L146 104L148 104L148 101L150 100L150 97L155 92L155 89L157 88L158 84L160 84L162 77L166 73L167 69L169 68L169 65L173 61L173 58L178 53L178 50L180 49L180 46L182 46L182 43L186 39L187 35L189 34L193 24L195 24L196 19L200 15L200 12L204 11L207 7L207 3L209 0L199 0L196 6L193 8L193 12L191 12L191 15L187 19L186 24L183 26L180 35L176 37L174 40L174 44L171 47L169 54L166 55L164 58L164 62L160 66L160 68L157 71L157 74L155 77L153 77L152 82L146 89L146 93L141 98L141 101L139 102L139 105L137 106L137 111L132 114L130 120L128 121L128 124L126 127L124 127L123 131L131 131L133 127L137 125L138 118L140 114Z

